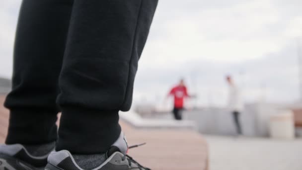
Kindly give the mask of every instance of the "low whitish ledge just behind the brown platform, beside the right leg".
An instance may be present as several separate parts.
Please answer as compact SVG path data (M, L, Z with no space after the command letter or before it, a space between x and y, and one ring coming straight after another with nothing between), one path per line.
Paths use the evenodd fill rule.
M164 119L146 119L142 118L138 113L134 111L120 112L120 119L127 122L131 126L136 128L165 128L165 129L191 129L197 130L197 126L194 121L190 120L164 120Z

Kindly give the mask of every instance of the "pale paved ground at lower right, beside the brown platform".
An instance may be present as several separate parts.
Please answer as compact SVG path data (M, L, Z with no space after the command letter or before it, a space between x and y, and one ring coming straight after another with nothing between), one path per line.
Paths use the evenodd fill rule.
M302 170L302 139L206 136L210 170Z

